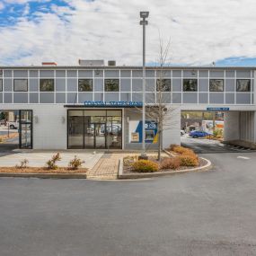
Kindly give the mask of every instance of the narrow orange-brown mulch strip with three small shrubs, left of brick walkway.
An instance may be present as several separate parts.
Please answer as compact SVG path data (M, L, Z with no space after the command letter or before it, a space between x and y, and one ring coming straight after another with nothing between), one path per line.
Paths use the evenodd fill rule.
M16 167L0 167L0 173L86 173L86 168L78 170L72 170L65 167L59 167L57 170L49 170L44 167L27 167L27 168L16 168Z

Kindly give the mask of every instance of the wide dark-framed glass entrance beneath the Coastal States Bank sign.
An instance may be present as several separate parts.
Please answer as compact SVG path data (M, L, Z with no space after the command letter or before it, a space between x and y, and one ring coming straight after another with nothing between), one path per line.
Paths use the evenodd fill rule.
M122 148L121 110L67 110L67 148Z

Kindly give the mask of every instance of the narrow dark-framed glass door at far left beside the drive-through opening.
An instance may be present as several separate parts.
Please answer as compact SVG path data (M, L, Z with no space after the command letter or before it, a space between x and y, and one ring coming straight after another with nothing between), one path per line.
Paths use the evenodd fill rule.
M20 110L20 148L32 148L32 110Z

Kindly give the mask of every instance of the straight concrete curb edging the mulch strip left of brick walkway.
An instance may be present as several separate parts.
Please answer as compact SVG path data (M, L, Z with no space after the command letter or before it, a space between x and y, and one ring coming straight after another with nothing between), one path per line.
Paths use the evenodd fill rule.
M40 178L40 179L86 179L82 173L16 173L0 172L0 177L9 178Z

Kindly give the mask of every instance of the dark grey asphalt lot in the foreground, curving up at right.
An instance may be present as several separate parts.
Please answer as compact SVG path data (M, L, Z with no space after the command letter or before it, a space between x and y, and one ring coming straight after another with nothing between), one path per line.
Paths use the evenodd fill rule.
M140 181L0 179L1 256L256 255L256 153Z

